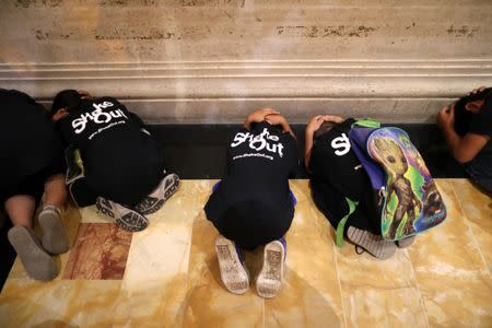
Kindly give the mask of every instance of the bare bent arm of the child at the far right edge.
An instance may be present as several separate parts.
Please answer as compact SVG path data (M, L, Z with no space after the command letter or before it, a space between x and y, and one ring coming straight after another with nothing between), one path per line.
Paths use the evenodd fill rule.
M470 162L489 142L490 137L468 132L461 138L456 133L454 122L455 107L443 107L437 114L437 125L443 130L447 148L459 163Z

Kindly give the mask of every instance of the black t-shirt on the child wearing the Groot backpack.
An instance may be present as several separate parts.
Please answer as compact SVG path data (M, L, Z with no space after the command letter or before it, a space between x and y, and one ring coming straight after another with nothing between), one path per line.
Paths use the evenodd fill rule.
M349 140L353 122L347 119L315 140L309 161L313 198L335 229L349 213L345 197L358 201L345 229L353 225L379 234L380 222L372 206L371 181Z

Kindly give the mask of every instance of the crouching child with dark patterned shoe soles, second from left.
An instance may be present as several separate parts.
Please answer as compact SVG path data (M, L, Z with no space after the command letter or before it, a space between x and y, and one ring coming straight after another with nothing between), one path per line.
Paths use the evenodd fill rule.
M98 196L97 209L124 230L145 229L144 215L163 206L179 178L165 174L161 149L142 120L113 97L75 90L57 94L51 116L66 143L80 150L83 184Z

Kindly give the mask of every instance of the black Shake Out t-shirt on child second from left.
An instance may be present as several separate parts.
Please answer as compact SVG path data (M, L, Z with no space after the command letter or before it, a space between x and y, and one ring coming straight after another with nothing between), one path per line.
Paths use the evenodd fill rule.
M159 184L161 150L117 99L83 99L81 109L62 118L59 128L65 141L81 150L87 184L97 195L131 204Z

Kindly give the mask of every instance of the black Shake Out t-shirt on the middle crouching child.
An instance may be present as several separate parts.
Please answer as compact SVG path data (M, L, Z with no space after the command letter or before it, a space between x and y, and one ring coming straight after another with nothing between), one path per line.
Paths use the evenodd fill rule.
M234 134L226 161L225 176L206 206L209 220L245 247L282 237L294 215L289 176L298 165L297 141L262 121Z

